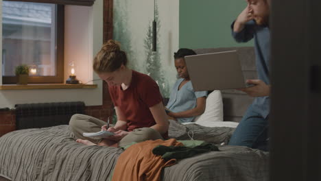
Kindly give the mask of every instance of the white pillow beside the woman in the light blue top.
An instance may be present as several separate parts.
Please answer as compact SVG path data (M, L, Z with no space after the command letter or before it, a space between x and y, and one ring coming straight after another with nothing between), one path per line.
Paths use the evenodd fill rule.
M211 124L213 121L223 121L223 101L219 90L214 90L207 96L204 113L193 120L193 122L204 126Z

